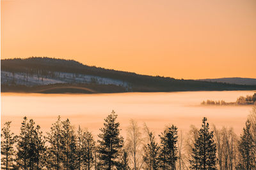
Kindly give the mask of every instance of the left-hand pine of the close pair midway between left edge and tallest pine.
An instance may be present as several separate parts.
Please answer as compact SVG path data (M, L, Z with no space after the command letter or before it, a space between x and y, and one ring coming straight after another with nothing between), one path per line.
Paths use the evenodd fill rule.
M49 148L47 148L47 167L48 169L61 169L61 118L58 116L58 120L52 124L51 131L47 132L47 142Z

